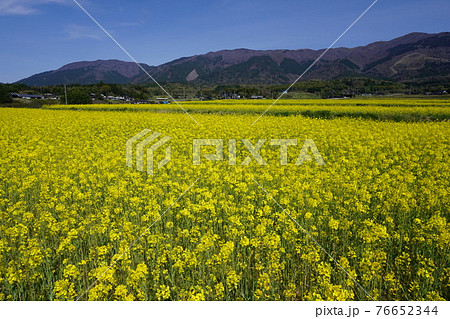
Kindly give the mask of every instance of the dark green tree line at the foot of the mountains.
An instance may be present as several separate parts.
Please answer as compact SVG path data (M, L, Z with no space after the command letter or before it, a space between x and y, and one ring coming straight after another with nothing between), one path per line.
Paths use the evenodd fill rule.
M177 100L222 99L222 98L277 98L284 93L284 98L338 98L360 95L385 94L446 94L449 83L399 83L372 78L344 78L331 81L309 80L298 82L289 92L288 85L206 85L187 83L164 83L164 88ZM156 84L107 84L99 82L94 85L62 85L29 87L24 84L0 84L0 103L13 103L11 93L51 94L59 96L54 103L90 104L112 103L111 97L123 97L127 101L151 102L165 93ZM39 104L39 103L38 103Z

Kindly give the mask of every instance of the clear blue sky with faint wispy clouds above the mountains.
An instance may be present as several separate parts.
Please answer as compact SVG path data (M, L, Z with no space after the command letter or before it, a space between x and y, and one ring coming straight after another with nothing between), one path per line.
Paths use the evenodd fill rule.
M222 49L328 47L374 0L79 0L149 65ZM450 31L448 0L379 0L336 47ZM129 61L73 0L0 0L0 82L75 61Z

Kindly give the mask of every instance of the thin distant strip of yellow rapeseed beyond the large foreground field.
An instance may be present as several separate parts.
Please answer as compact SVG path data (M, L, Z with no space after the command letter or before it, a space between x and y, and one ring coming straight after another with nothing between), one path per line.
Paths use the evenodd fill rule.
M254 114L264 112L274 100L221 100L184 102L189 113ZM172 104L89 104L51 105L49 109L101 111L183 112ZM304 115L308 117L356 117L392 121L449 120L450 100L420 99L336 99L336 100L280 100L267 111L268 115Z

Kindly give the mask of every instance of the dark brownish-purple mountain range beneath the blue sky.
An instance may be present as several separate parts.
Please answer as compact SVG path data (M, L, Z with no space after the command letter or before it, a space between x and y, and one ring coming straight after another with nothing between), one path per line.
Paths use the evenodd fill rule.
M282 84L294 81L325 50L223 50L159 66L141 64L159 82ZM392 81L450 80L450 32L411 33L355 48L330 49L303 79L371 77ZM22 79L29 86L152 82L133 62L75 62Z

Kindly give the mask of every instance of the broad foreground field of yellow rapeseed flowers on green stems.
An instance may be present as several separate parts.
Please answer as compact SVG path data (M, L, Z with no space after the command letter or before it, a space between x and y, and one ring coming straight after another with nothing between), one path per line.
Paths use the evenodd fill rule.
M0 300L450 299L448 121L226 113L0 109ZM125 164L143 129L172 138L153 176ZM288 165L272 139L298 139ZM308 139L325 165L295 165Z

